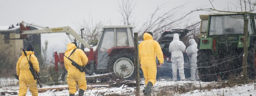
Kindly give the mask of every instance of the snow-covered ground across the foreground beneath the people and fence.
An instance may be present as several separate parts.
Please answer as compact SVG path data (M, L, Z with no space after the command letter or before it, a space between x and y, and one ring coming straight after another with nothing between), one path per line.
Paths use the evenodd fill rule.
M242 86L226 87L220 89L211 89L211 90L193 90L193 88L199 88L200 86L207 87L211 85L220 84L218 82L199 82L199 81L157 81L154 87L152 88L152 95L161 96L161 93L166 93L162 95L177 95L177 96L256 96L256 83L244 84ZM44 85L43 88L54 88L54 87L68 87L68 85L53 85L47 86ZM19 92L18 86L11 86L0 88L0 92ZM144 85L140 86L140 94L143 96L142 90ZM181 91L191 90L185 93L180 93ZM96 88L93 90L86 90L84 96L133 96L135 88L127 87L123 85L121 87L112 87L112 88ZM78 94L78 92L76 92ZM39 93L39 96L68 96L68 90L63 90L60 92L47 91L44 93ZM27 92L27 96L31 96L31 93Z

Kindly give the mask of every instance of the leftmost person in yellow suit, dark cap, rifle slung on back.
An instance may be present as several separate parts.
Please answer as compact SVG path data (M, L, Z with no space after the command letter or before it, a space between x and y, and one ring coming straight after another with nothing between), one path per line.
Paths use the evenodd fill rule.
M34 51L34 47L28 44L27 51L26 51L28 59L25 56L24 52L21 52L22 55L17 61L16 71L17 71L17 76L19 76L19 84L20 84L18 96L25 96L27 94L28 88L32 93L32 96L38 96L36 80L34 79L33 75L29 70L30 66L28 63L28 60L30 57L30 62L32 63L33 68L37 73L39 72L39 64L33 51Z

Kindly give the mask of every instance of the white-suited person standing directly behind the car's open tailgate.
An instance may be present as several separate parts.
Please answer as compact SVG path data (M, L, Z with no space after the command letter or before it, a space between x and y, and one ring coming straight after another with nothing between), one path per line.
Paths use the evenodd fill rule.
M179 68L180 80L185 79L184 75L184 59L183 53L185 52L186 45L180 41L179 35L175 33L173 40L169 45L169 52L172 53L172 80L177 81L177 67Z

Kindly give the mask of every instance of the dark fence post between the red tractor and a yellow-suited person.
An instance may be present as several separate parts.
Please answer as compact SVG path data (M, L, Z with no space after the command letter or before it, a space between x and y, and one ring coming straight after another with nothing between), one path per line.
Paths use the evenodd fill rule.
M139 64L139 37L138 33L134 33L134 49L135 49L135 57L134 57L134 66L135 66L135 76L136 76L136 96L140 96L140 64Z

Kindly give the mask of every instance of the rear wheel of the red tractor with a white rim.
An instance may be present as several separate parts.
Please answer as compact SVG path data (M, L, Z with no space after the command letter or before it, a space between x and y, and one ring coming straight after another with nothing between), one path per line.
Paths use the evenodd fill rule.
M108 69L110 72L114 72L116 76L132 80L134 79L134 57L131 55L121 54L119 56L114 56L110 59L108 64Z

